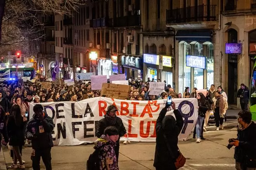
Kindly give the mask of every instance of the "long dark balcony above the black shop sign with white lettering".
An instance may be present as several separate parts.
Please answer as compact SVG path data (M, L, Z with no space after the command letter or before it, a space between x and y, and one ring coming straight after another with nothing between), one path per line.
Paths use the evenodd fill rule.
M111 23L111 21L110 21ZM140 26L140 15L127 15L112 19L112 24L109 27L132 27Z

